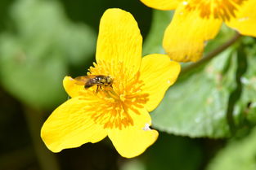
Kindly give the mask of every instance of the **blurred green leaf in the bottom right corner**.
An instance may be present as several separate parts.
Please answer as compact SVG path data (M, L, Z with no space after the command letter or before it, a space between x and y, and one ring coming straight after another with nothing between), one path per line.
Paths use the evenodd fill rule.
M254 170L256 169L256 129L248 137L231 142L209 164L209 170Z

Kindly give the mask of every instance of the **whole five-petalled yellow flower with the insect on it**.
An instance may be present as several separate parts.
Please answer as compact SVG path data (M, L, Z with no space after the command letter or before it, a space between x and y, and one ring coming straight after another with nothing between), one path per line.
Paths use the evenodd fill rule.
M167 55L141 59L142 37L132 15L107 10L101 18L94 67L88 75L110 76L113 85L85 89L70 76L63 81L71 99L57 107L41 129L49 150L59 152L110 137L119 154L131 158L152 145L158 132L149 128L148 111L157 107L180 72Z

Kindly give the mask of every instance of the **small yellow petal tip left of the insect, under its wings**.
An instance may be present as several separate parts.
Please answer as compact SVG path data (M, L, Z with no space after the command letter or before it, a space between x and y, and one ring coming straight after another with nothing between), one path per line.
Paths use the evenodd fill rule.
M84 90L84 85L76 84L71 76L65 76L63 86L66 93L69 94L71 98L79 96L79 93Z

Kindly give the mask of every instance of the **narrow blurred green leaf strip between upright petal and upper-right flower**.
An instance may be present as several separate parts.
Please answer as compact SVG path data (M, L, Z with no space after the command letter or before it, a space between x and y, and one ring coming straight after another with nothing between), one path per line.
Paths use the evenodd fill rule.
M150 33L146 37L143 46L143 55L146 54L164 54L162 41L164 37L164 30L173 17L173 11L158 11L153 10L153 19L150 28Z

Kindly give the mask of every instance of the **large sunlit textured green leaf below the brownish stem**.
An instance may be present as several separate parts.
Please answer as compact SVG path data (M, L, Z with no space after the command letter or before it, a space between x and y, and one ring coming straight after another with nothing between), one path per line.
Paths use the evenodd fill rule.
M179 77L151 113L153 127L189 137L227 137L228 98L236 88L236 55L226 50Z

